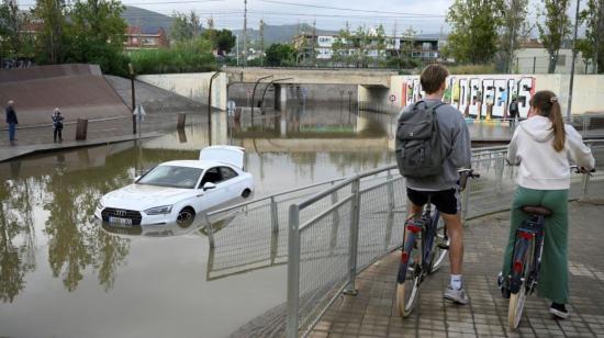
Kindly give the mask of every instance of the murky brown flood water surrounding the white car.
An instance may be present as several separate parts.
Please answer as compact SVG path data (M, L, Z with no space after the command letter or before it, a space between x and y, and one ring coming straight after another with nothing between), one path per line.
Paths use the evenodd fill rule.
M247 149L256 196L394 161L390 115L299 105L233 123L225 115L214 115L211 136L191 125L0 164L0 336L225 337L283 303L284 264L210 278L220 257L197 226L92 219L102 194L156 164L198 158L209 139Z

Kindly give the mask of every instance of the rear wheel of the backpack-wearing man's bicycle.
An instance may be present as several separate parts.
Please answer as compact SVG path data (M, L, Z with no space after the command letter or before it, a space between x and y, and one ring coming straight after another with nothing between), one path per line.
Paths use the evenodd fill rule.
M405 240L401 254L401 263L396 277L396 308L401 317L411 315L420 295L420 277L422 264L420 250L416 248L417 235L412 234ZM409 254L405 254L409 252Z

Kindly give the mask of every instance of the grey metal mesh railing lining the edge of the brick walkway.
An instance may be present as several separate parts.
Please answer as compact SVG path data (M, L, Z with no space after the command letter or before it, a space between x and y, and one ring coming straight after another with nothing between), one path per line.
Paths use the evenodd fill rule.
M571 176L571 200L604 199L604 140L588 144L597 172ZM481 177L469 180L461 196L465 219L510 209L517 167L506 165L506 147L472 149L472 168ZM301 216L307 210L315 211L313 217ZM287 337L306 336L339 294L355 294L360 271L400 247L405 210L404 180L395 166L357 174L290 205Z

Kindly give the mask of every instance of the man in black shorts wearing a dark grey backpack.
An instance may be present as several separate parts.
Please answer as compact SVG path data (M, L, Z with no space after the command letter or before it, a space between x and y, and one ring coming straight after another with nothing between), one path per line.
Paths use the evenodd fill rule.
M467 304L461 274L463 228L460 217L458 169L471 164L470 133L460 111L441 101L447 68L433 64L420 78L426 95L399 115L396 164L405 178L411 217L420 217L428 195L440 212L450 238L450 283L445 298Z

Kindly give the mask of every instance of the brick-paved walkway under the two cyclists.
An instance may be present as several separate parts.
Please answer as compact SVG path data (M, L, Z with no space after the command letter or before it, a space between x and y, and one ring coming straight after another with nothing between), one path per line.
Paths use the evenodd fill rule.
M342 295L317 324L311 337L604 337L604 259L601 219L604 206L570 204L569 234L570 317L556 320L549 303L533 295L527 300L519 328L507 328L507 301L495 285L508 213L468 223L466 228L465 283L470 304L455 305L443 298L449 281L448 266L422 284L414 313L404 320L394 300L399 254L390 254L357 279L359 294ZM448 264L448 262L447 262Z

